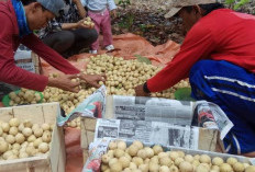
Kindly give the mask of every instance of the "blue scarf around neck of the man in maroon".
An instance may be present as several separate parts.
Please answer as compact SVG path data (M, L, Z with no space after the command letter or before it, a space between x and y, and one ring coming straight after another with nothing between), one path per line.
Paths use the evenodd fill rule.
M20 37L31 34L32 31L29 28L22 2L20 0L12 0L12 5L16 15Z

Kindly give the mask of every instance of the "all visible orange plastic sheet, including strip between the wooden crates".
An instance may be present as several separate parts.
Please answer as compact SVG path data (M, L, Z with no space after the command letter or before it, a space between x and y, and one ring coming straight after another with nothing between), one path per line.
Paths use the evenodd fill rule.
M166 66L179 50L179 44L168 41L158 46L153 46L145 38L134 34L113 36L115 50L107 53L99 50L99 54L109 54L124 59L135 59L136 56L147 57L155 66ZM68 60L78 69L86 69L91 54L80 54L70 57ZM42 59L41 59L42 60ZM47 62L42 60L43 74L60 73ZM66 172L80 172L82 170L82 150L80 148L80 130L74 128L65 129L66 141Z

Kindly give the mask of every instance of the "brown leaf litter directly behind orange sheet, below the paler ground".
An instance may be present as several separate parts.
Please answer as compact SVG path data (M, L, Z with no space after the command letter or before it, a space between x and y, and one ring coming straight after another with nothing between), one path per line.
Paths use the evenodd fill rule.
M120 13L119 13L120 14ZM184 41L181 21L167 20L163 12L126 10L112 20L112 32L115 35L133 33L141 35L153 45L166 43L168 39L181 43Z

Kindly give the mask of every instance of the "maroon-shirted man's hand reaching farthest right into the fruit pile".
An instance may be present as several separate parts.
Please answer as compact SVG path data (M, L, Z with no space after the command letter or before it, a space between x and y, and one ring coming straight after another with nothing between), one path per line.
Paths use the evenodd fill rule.
M100 88L99 82L102 81L104 83L107 80L106 74L80 74L79 78L95 88Z

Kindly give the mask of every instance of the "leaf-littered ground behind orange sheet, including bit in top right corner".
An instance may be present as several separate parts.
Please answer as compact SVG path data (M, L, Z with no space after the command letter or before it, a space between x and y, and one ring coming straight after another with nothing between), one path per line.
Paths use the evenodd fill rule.
M171 39L182 43L184 34L180 19L165 19L167 9L165 0L136 0L126 7L118 9L118 18L112 20L112 32L115 35L133 33L145 37L153 45L159 45ZM231 7L226 7L231 8ZM255 14L255 1L247 3L237 11Z

